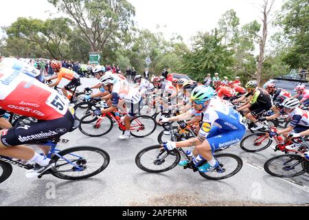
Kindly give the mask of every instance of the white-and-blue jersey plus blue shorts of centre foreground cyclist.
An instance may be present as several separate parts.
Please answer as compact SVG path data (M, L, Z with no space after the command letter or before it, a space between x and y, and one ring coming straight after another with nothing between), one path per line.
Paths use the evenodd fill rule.
M192 115L196 113L191 111ZM203 111L203 125L198 133L198 140L207 138L214 152L218 148L226 148L242 140L246 126L242 116L231 109L220 98L212 98L209 106Z

